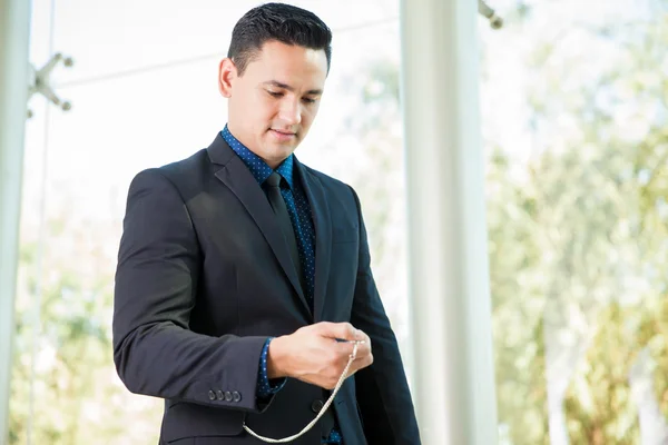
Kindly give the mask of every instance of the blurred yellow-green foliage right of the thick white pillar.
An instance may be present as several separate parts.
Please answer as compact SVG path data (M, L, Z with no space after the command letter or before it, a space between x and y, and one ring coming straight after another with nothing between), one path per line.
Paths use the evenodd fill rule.
M586 30L616 39L591 81L579 77L583 60L537 43L527 68L537 127L569 119L574 129L550 134L519 179L502 148L490 155L498 403L512 444L549 443L544 346L577 350L564 335L584 348L561 369L572 372L562 404L572 443L640 443L639 408L654 400L633 399L630 374L644 350L651 397L668 415L667 24ZM579 87L563 90L571 80Z

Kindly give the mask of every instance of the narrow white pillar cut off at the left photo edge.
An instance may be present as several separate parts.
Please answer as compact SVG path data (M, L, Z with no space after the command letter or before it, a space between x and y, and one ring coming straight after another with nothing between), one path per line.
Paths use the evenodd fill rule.
M0 0L0 443L8 442L30 1Z

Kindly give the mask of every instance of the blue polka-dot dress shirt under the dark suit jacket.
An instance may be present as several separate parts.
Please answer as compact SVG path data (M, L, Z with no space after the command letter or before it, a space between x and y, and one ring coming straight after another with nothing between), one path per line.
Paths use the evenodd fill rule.
M250 151L242 142L239 142L227 129L227 126L220 132L223 139L232 147L232 149L244 161L257 184L262 187L264 181L272 175L274 170L257 155ZM281 187L281 194L287 206L287 212L295 230L297 239L297 250L299 253L299 264L304 273L306 288L304 295L311 310L313 312L313 289L315 283L315 227L311 217L311 206L306 199L303 186L299 180L295 179L294 174L294 156L291 155L285 159L278 168L278 172L287 182L288 187ZM272 338L267 338L259 359L259 375L257 378L257 397L267 398L272 394L277 393L285 385L285 379L269 380L267 376L267 353ZM343 444L338 428L334 428L323 444Z

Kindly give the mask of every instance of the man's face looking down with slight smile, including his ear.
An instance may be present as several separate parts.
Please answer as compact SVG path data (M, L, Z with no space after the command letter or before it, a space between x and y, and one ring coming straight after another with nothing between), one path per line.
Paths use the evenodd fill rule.
M229 99L229 131L276 168L306 137L327 77L324 50L266 42L244 71L230 59L219 67L220 93Z

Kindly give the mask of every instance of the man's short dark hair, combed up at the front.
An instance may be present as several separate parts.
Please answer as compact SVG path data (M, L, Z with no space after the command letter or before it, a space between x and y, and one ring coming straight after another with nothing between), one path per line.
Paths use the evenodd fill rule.
M332 30L316 14L285 3L265 3L253 8L232 31L227 57L243 76L267 41L324 50L327 71L332 62Z

